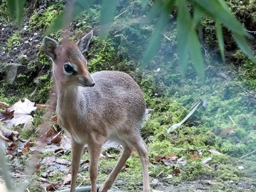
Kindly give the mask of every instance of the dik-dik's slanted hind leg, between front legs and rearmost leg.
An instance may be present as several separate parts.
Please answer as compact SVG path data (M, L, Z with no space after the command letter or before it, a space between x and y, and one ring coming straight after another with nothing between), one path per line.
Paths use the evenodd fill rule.
M118 173L122 169L124 163L131 156L131 153L132 153L131 148L128 147L128 146L123 146L123 147L124 147L123 152L122 152L122 155L121 155L121 157L119 158L119 160L117 162L117 165L112 170L110 175L107 177L107 179L103 183L103 185L100 187L99 192L107 192L111 188L113 182L115 181Z

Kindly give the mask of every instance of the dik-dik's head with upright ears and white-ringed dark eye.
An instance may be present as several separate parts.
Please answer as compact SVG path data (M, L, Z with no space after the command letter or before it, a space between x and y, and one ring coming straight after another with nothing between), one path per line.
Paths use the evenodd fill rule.
M56 83L69 87L93 87L93 77L87 69L87 61L83 52L88 49L93 31L79 39L76 43L64 39L57 43L50 37L43 39L43 51L53 61L53 75Z

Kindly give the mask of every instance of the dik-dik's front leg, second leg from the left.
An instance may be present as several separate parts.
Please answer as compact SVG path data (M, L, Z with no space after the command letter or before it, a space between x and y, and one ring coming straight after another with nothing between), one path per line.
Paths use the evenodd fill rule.
M98 176L98 162L101 154L101 147L103 143L88 143L88 151L90 156L89 174L92 185L92 192L96 192L96 179Z

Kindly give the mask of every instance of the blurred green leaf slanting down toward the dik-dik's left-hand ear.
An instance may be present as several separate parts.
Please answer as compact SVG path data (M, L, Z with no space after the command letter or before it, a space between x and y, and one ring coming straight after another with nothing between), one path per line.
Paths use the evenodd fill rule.
M66 27L70 22L72 22L78 15L83 11L89 11L90 7L93 5L95 0L76 0L74 2L74 8L70 21L67 20L67 16L70 10L65 10L59 14L51 23L51 25L46 29L45 35L56 32L64 27Z

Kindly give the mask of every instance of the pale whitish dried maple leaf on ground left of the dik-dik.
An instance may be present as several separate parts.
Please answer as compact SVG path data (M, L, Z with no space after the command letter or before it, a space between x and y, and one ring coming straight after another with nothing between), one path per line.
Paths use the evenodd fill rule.
M7 126L17 126L19 124L24 124L23 128L28 127L32 124L33 117L30 113L36 110L33 102L24 99L24 102L19 100L17 103L8 108L9 111L14 110L13 118L11 120L4 121Z

